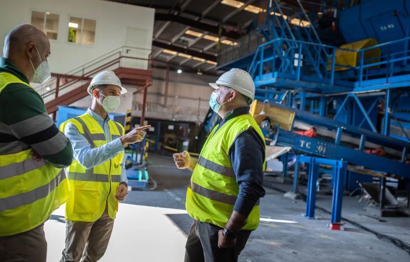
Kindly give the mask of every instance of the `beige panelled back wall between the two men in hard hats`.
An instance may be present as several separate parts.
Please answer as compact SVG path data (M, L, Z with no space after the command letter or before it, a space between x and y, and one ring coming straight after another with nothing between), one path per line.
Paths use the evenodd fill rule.
M208 83L217 76L177 74L170 71L167 105L165 102L165 70L153 70L152 86L148 88L146 118L200 123L209 109L213 89ZM132 115L140 116L143 93L134 95Z

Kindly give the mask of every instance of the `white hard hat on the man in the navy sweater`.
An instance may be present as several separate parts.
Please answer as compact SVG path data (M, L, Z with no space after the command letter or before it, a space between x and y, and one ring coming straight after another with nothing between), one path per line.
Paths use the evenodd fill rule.
M242 69L232 68L226 73L223 73L215 83L209 83L215 89L218 85L227 86L237 90L239 93L255 100L255 83L251 75Z

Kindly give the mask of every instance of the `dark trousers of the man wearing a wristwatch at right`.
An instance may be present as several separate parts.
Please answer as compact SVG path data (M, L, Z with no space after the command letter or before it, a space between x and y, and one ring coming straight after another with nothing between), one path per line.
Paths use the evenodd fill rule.
M194 220L185 246L185 262L237 262L247 244L251 230L241 230L232 248L218 248L218 231L222 228Z

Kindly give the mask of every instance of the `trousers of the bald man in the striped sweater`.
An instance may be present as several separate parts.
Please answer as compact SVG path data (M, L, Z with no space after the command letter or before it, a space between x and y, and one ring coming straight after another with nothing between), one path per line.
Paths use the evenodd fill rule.
M46 262L44 224L24 233L0 237L0 261Z

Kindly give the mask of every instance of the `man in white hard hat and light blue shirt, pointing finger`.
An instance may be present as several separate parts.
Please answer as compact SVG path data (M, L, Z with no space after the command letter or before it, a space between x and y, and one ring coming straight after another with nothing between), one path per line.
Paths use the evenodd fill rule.
M74 162L67 168L70 199L66 205L66 248L60 261L98 261L103 257L118 210L128 194L124 147L141 141L150 126L124 133L108 113L127 90L112 71L98 73L88 93L92 105L60 125L70 139Z

